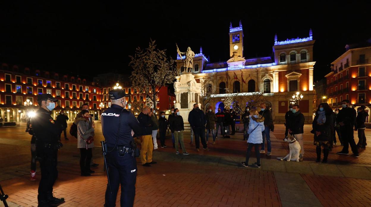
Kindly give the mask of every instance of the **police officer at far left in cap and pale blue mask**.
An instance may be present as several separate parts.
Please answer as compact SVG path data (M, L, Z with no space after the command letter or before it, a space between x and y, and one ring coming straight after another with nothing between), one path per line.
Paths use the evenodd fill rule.
M64 202L64 198L53 197L53 184L58 177L57 154L62 144L58 141L62 133L62 124L53 120L50 111L55 108L58 99L50 94L37 96L39 110L32 117L31 124L36 137L36 153L40 161L41 180L39 184L38 207Z

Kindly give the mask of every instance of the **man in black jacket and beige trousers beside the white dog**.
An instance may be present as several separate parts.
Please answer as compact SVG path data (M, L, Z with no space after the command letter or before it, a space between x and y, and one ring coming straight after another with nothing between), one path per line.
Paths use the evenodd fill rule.
M301 152L299 155L299 161L303 161L304 157L304 144L303 144L303 134L304 134L304 121L305 117L300 112L299 105L295 104L292 106L292 114L290 114L290 126L288 132L292 134L296 140L298 140Z

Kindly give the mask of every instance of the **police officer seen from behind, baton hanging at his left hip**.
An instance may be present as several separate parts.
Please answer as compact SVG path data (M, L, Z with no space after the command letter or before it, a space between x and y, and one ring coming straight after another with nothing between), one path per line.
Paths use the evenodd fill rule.
M135 196L135 181L137 178L137 161L132 157L134 139L132 131L141 135L138 120L125 109L129 95L122 89L109 91L112 105L101 116L102 132L107 144L106 162L109 168L109 186L106 189L105 206L116 206L116 197L121 184L121 206L133 206ZM129 150L125 150L129 149Z

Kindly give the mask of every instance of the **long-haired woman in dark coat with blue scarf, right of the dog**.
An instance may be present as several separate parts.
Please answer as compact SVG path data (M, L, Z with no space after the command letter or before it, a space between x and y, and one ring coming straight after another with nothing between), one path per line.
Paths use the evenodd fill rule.
M324 159L322 163L327 163L329 148L331 147L332 136L334 133L334 116L332 109L327 103L321 103L316 111L316 116L312 123L314 134L314 145L316 146L317 159L316 162L321 161L321 146L324 151Z

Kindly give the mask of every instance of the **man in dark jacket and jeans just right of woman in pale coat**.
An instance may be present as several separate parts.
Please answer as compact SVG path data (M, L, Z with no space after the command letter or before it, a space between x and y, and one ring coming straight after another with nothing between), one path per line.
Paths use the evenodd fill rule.
M267 140L267 156L270 156L272 153L272 145L270 143L270 126L273 124L273 117L272 112L265 106L265 103L260 104L260 111L259 115L264 117L264 131L262 132L263 135L263 143L262 149L260 153L265 153L265 138Z

